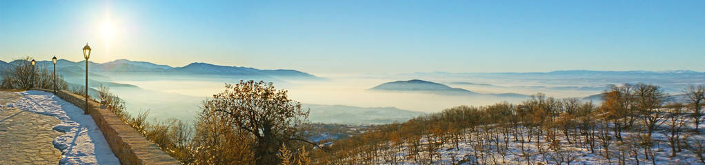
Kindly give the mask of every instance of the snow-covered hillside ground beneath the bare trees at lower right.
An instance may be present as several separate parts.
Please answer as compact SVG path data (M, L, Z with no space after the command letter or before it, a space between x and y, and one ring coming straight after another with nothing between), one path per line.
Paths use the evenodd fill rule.
M684 127L692 129L692 121L686 121ZM572 138L569 142L568 136L560 130L556 131L556 140L547 140L547 133L539 135L537 129L529 133L528 128L519 127L515 133L513 128L479 126L467 129L459 136L424 135L416 151L419 157L412 157L410 152L414 151L407 145L388 142L377 146L376 157L372 159L376 164L703 164L689 147L696 147L692 146L693 142L705 142L705 135L684 132L681 135L684 139L682 149L675 157L670 157L672 149L664 128L666 122L670 121L663 121L661 128L651 135L653 144L650 149L635 147L639 145L637 135L643 133L623 132L623 142L612 139L605 149L599 139L600 133L591 139L575 131L569 136ZM705 124L701 123L699 127L704 128ZM605 134L615 135L612 131ZM529 135L532 135L530 141ZM594 141L593 149L588 145L590 140ZM556 143L551 144L552 141Z

